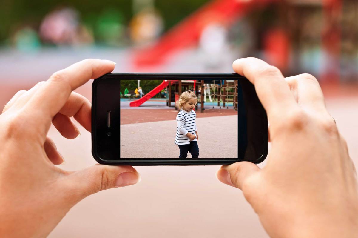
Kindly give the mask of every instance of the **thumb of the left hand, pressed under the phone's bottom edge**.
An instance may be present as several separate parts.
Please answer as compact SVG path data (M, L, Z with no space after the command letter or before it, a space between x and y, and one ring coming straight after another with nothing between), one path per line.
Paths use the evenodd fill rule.
M69 194L76 202L88 195L114 187L136 184L139 173L132 166L92 165L83 170L70 173L66 179Z

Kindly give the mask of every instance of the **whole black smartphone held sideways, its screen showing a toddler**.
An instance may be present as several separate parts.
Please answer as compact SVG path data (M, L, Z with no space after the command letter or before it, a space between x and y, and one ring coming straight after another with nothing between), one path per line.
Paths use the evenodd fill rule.
M121 88L138 80L144 89L137 85L131 87L136 91ZM146 83L150 84L146 80L155 80L158 86L146 87ZM193 104L175 106L179 94L185 91L197 95L194 108ZM100 163L259 163L267 156L266 112L255 87L236 73L110 73L93 82L92 93L92 153ZM204 96L206 100L202 103ZM191 140L180 133L182 130L178 131L178 118L187 120L186 129L195 136L193 141L199 147L198 158L191 158L192 151L187 158L179 158L179 145L190 144Z

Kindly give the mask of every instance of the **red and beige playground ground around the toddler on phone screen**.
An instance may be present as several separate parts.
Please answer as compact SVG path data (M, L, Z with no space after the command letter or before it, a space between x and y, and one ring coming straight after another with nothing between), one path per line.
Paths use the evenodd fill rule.
M232 103L226 106L229 109L221 103L219 109L217 102L207 102L203 113L198 106L199 158L237 158L237 111ZM149 100L139 107L129 107L129 100L121 100L120 113L121 158L179 157L174 143L178 111L166 106L165 99Z

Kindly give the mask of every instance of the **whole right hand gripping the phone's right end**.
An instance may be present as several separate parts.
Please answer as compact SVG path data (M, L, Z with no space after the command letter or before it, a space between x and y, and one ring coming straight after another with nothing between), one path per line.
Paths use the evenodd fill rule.
M255 85L266 109L271 151L264 168L238 162L222 166L218 179L243 191L271 237L356 237L356 172L318 81L284 78L256 58L233 68Z

